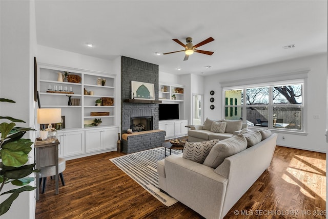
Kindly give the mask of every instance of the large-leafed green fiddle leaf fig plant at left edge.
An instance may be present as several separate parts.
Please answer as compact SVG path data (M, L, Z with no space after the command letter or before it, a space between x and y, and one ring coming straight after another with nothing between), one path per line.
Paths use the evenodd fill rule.
M0 98L0 102L15 103L11 99L6 98ZM28 162L28 154L32 150L31 145L33 142L22 138L26 131L34 129L15 127L16 124L13 122L25 122L10 116L0 116L1 119L7 119L12 122L0 124L0 195L11 194L0 204L0 215L3 215L9 210L20 192L32 191L36 188L28 185L34 181L34 177L27 176L32 172L38 172L38 170L33 170L35 164L25 165ZM7 183L11 183L19 188L2 192Z

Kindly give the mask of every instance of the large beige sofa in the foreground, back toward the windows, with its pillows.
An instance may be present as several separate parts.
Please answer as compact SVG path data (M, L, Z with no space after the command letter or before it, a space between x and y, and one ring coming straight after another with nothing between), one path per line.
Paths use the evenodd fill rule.
M206 218L223 218L270 166L276 140L264 129L186 143L181 156L158 162L159 188Z

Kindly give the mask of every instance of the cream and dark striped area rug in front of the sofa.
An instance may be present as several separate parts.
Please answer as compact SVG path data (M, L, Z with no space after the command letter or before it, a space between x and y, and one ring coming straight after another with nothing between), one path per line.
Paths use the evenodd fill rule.
M157 162L164 158L164 150L165 148L159 147L109 160L161 203L169 207L177 201L170 195L159 191L158 188ZM166 153L169 155L170 150L167 150ZM180 150L171 150L171 154L180 153Z

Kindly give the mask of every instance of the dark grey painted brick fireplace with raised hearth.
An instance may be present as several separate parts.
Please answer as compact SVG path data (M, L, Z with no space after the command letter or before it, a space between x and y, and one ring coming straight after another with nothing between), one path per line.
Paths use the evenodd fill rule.
M165 140L165 131L158 130L158 104L125 102L131 97L131 81L154 84L155 100L158 100L158 65L122 56L121 77L122 151L133 153L160 146ZM127 130L133 127L132 118L137 117L151 117L146 123L151 123L149 126L152 130L126 134Z

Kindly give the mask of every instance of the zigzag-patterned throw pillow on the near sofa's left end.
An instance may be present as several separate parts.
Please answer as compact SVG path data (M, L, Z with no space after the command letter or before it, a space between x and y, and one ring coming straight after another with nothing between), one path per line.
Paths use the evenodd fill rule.
M182 157L186 158L187 160L202 164L213 146L218 142L219 140L217 139L204 142L187 142L183 148Z

